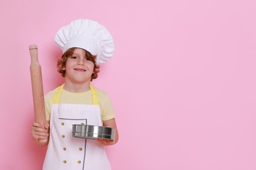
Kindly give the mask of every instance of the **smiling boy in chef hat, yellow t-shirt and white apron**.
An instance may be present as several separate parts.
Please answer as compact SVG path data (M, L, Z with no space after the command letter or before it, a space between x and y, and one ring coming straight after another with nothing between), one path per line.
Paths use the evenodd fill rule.
M64 54L58 72L65 83L45 95L47 124L35 122L34 141L46 146L43 169L111 169L104 146L115 144L119 135L108 95L91 86L98 76L98 64L108 61L114 41L105 27L92 20L75 20L62 27L55 42ZM114 141L72 137L72 124L116 128Z

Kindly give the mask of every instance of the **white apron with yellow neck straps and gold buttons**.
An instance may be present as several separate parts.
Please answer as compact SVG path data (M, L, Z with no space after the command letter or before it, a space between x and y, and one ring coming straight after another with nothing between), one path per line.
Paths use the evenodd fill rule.
M58 104L63 86L58 88L53 101L43 170L110 170L104 146L94 140L72 137L72 124L102 126L95 88L90 86L93 105Z

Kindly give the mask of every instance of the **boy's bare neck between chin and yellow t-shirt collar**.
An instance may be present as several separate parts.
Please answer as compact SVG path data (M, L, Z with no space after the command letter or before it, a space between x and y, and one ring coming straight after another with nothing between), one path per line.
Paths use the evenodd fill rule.
M86 92L90 90L90 82L81 83L81 84L65 82L64 89L72 93Z

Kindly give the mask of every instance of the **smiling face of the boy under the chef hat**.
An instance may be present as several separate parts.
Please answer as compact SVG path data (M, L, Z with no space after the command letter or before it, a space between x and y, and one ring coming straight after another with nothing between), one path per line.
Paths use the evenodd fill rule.
M73 83L91 82L94 64L85 56L85 50L75 48L74 54L66 61L65 78Z

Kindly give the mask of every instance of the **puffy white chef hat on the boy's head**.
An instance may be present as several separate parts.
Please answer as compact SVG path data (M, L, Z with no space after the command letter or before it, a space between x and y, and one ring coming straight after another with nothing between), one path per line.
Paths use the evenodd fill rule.
M83 48L96 57L96 63L106 63L114 53L114 40L110 32L98 22L79 19L61 27L54 41L63 53L69 48Z

